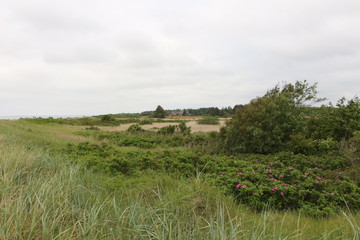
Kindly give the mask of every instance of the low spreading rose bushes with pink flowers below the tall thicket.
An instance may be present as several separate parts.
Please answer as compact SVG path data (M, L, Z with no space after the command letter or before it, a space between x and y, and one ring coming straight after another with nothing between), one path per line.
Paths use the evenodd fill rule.
M215 156L171 148L121 149L105 142L68 145L64 151L93 170L113 175L151 171L189 177L202 172L209 182L254 209L270 204L322 217L346 206L360 207L359 182L351 179L351 163L339 156Z

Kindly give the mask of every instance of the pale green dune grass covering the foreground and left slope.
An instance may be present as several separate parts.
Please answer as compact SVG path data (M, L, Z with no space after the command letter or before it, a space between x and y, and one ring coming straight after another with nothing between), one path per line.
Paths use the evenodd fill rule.
M271 209L254 213L201 174L114 179L93 173L53 151L83 140L72 131L0 121L0 239L360 237L358 213L321 220Z

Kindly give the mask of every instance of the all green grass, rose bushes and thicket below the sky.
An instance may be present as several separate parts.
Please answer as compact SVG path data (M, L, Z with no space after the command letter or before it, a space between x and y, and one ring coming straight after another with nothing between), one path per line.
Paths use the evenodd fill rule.
M357 239L359 100L308 100L316 85L277 86L209 133L2 120L0 238Z

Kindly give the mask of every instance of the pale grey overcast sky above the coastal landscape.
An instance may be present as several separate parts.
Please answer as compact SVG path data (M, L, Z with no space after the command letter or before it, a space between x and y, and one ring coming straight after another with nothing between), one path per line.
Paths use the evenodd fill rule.
M226 107L360 90L359 0L1 0L0 116Z

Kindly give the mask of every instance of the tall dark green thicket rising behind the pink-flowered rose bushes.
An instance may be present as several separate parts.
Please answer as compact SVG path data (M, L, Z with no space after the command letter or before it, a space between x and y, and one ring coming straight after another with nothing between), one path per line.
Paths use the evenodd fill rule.
M358 97L349 101L342 98L335 107L312 107L312 103L324 100L316 95L317 85L307 81L277 85L238 108L221 129L222 149L230 154L317 154L350 147L349 140L360 131Z

